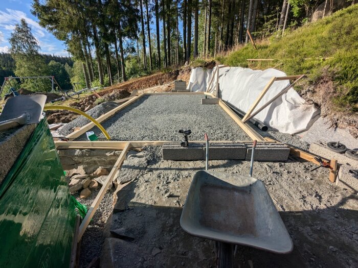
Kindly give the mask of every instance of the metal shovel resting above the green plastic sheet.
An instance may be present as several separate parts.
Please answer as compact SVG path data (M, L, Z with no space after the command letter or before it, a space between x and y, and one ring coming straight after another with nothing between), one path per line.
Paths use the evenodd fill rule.
M0 131L39 123L46 95L19 95L9 99L0 115Z

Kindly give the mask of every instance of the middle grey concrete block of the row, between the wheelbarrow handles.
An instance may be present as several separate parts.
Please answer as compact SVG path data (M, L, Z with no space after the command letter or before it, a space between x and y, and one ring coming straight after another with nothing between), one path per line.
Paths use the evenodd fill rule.
M204 159L206 159L206 145L204 146ZM243 143L210 143L209 160L242 160L246 156L245 144Z

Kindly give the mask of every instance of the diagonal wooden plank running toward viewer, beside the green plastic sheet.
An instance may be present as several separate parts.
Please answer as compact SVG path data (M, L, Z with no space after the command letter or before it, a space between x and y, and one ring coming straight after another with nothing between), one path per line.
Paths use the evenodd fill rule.
M89 222L91 221L93 215L95 214L99 203L101 203L104 194L106 193L108 186L110 183L112 183L113 178L115 177L115 174L117 172L117 170L121 167L127 152L129 151L129 149L131 148L131 144L130 142L127 142L127 145L125 146L124 150L122 151L121 155L118 157L115 165L113 166L113 168L110 170L109 175L107 176L107 179L105 180L104 184L102 185L101 189L99 190L96 199L93 201L91 207L88 208L87 214L84 217L80 228L79 228L79 235L78 235L78 242L81 240L82 235L84 233L84 231L86 230Z

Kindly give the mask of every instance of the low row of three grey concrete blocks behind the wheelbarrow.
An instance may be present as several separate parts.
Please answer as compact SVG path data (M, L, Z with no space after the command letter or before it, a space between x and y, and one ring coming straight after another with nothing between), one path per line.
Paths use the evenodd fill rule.
M209 160L250 160L252 143L220 142L209 143ZM164 160L205 160L205 143L189 143L181 147L180 142L165 143L162 147ZM284 144L258 143L256 161L286 161L289 148Z

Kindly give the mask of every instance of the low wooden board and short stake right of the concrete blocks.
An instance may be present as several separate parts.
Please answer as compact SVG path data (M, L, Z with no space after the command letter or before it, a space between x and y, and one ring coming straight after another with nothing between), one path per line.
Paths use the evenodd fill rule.
M281 143L277 140L274 140L274 139L271 139L271 138L268 138L268 137L265 137L265 140L267 141L272 141L272 142L276 142L276 143ZM286 143L281 143L281 144L285 144L289 149L289 153L296 156L296 157L299 157L299 158L302 158L304 160L307 160L309 162L312 162L316 165L320 165L320 162L318 162L315 157L320 157L323 161L329 163L329 166L330 166L330 169L329 169L329 181L330 182L335 182L335 180L337 179L337 175L338 175L338 163L337 163L337 159L327 159L327 158L324 158L324 157L321 157L319 155L316 155L316 154L312 154L312 153L308 153L308 152L305 152L293 145L290 145L290 144L286 144Z

